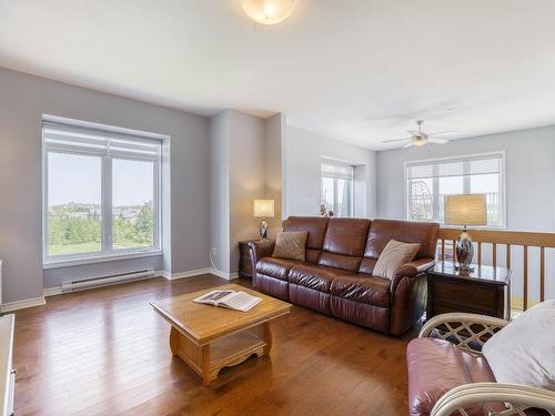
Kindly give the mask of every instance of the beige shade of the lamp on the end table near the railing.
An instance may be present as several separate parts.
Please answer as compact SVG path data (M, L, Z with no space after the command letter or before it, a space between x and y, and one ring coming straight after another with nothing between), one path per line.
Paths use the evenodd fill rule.
M486 225L487 212L485 195L446 195L445 224Z

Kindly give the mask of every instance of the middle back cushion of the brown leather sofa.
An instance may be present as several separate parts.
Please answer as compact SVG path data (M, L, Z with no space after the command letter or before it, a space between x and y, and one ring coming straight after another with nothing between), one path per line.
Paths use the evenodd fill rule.
M356 272L364 254L369 227L370 220L331 219L317 264Z

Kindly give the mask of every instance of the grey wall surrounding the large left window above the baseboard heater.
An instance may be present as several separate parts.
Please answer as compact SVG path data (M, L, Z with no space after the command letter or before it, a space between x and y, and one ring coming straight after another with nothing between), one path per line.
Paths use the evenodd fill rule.
M171 136L172 273L208 266L209 120L158 105L0 69L0 257L3 302L42 296L69 274L102 275L107 264L42 273L41 119L60 115ZM110 262L162 267L162 258Z

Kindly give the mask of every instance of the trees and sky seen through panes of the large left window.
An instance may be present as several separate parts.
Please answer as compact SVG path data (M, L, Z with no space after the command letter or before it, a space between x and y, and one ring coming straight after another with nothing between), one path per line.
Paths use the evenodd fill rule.
M47 257L157 245L155 161L59 151L47 156Z

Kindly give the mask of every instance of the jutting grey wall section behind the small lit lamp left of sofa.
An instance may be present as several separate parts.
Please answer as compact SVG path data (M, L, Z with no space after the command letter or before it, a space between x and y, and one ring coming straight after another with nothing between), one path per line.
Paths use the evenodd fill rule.
M224 110L210 120L211 247L214 267L232 274L240 241L259 239L254 199L273 197L281 212L281 114L268 120Z

